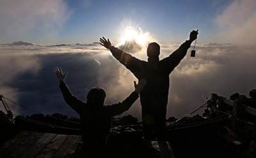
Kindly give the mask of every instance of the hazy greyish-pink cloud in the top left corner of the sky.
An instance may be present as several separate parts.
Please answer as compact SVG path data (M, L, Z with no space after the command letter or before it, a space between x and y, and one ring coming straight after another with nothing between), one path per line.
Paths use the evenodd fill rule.
M1 0L0 35L7 39L31 31L55 35L71 13L63 0Z

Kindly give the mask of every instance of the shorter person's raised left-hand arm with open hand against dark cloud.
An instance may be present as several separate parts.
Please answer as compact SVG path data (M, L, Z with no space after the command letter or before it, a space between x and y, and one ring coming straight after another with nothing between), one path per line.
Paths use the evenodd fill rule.
M77 99L67 87L67 84L64 82L67 72L65 74L62 73L61 68L54 68L54 74L56 75L59 83L60 90L63 95L63 98L67 104L72 107L77 113L81 112L81 104L84 104L81 100Z

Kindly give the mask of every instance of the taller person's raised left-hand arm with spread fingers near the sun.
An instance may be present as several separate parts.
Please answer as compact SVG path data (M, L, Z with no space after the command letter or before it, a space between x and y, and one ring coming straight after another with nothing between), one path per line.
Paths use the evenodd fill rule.
M131 70L131 72L136 73L138 72L140 68L141 60L134 58L134 56L131 56L131 54L128 54L127 52L124 52L116 47L114 47L111 42L106 40L106 38L102 37L100 38L100 45L106 47L106 49L109 49L112 53L112 55L120 61L126 68Z

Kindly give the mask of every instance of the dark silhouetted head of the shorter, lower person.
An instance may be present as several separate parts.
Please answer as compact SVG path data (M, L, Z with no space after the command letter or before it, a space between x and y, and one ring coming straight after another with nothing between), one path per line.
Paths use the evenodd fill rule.
M87 95L87 103L91 105L102 106L106 93L99 87L92 88Z

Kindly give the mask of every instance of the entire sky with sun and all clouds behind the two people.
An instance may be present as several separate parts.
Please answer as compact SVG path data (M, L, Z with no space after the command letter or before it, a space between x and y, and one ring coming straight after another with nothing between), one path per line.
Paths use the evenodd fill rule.
M248 96L256 88L255 7L254 0L0 0L0 94L40 113L78 116L65 104L53 74L55 67L61 67L79 99L86 102L90 88L99 86L107 93L105 104L115 104L134 90L137 80L93 42L106 36L143 60L147 44L158 42L163 59L198 29L195 58L189 49L170 75L166 117L190 113L204 104L202 95ZM31 114L8 104L17 115ZM137 100L124 115L140 120L140 112Z

